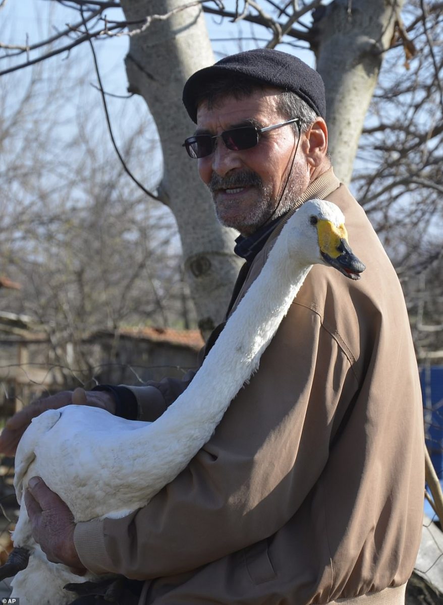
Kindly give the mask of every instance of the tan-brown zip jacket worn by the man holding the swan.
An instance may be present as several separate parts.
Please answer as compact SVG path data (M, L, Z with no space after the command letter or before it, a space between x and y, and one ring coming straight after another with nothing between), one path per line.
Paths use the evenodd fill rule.
M300 203L312 197L344 212L367 266L361 280L315 266L257 373L185 471L128 517L77 525L91 571L147 580L140 605L404 602L424 489L407 312L363 209L332 170ZM140 417L153 419L183 385L134 388Z

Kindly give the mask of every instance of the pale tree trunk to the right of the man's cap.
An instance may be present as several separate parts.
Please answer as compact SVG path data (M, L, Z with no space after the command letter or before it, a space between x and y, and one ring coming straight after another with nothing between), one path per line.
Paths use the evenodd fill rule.
M349 183L364 118L403 0L334 0L314 16L317 70L326 87L329 151Z

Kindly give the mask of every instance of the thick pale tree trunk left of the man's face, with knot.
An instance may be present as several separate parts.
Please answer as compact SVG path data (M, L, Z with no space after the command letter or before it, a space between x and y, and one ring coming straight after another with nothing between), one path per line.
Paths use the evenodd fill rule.
M191 2L121 2L129 22L166 15L185 4ZM195 128L182 103L183 85L194 71L213 62L200 4L166 19L154 19L144 31L131 36L126 56L130 90L146 100L159 131L164 167L161 193L177 220L186 278L205 334L223 318L239 266L232 252L232 232L218 224L209 192L197 174L197 162L182 148Z

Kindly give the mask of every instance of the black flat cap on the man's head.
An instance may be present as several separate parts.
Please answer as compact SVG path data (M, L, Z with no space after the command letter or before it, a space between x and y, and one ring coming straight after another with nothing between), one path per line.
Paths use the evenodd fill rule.
M197 123L197 100L202 86L218 78L245 76L261 84L298 94L317 116L326 117L324 84L320 74L292 54L271 48L255 48L231 54L211 67L196 71L183 88L183 103L191 120Z

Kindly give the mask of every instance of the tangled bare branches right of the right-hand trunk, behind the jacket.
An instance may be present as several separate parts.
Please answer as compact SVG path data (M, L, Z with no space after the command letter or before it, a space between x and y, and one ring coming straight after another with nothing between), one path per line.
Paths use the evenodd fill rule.
M420 361L443 359L441 3L409 2L367 114L353 188L396 267Z

